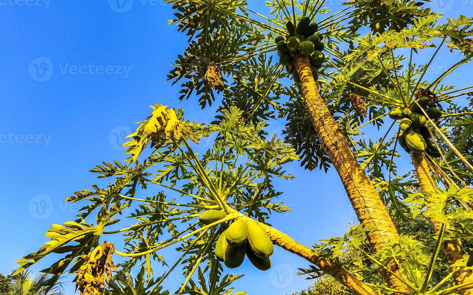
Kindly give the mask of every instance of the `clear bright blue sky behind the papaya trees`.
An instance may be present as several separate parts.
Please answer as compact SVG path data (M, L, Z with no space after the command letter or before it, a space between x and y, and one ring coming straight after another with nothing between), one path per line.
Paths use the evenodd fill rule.
M164 83L187 39L167 26L170 6L162 0L122 6L114 1L0 0L0 272L14 269L17 259L44 244L51 224L74 218L78 206L62 203L65 196L106 185L87 171L101 161L125 158L123 137L146 118L149 105L183 108L187 119L199 122L215 115L195 100L179 103L179 87ZM261 0L249 2L266 9ZM340 3L327 2L333 9ZM451 17L472 11L466 0L434 0L430 6ZM456 57L440 56L429 75L435 78L435 71ZM466 73L460 69L452 83L470 85ZM293 212L275 215L272 225L307 245L342 235L355 215L338 176L304 171L296 162L286 169L296 180L276 185ZM34 270L52 261L45 259ZM306 267L307 261L277 249L272 270L260 272L245 262L234 272L247 275L234 287L249 294L291 294L311 284L293 275ZM174 289L183 280L175 272L166 287Z

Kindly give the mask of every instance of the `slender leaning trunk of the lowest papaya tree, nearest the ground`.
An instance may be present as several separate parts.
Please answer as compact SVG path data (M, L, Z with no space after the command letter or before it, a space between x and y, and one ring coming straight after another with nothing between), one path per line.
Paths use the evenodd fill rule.
M244 221L250 220L250 218L241 213L238 213L238 219L242 219ZM332 260L317 255L316 253L314 253L314 251L312 251L312 248L309 248L303 244L299 244L288 235L264 223L260 222L259 224L268 233L273 244L276 244L284 250L289 251L290 253L294 253L299 257L302 257L305 260L313 263L325 273L342 283L343 286L350 289L350 291L354 294L378 295L377 292L373 291L370 287L365 285L355 275L343 269L340 265L336 264Z

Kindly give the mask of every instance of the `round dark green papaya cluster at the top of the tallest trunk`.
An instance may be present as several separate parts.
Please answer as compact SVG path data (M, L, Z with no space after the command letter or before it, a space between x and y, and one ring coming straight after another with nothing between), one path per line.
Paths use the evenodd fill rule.
M312 23L309 17L302 17L297 27L292 20L286 24L289 35L278 36L274 42L278 44L278 56L280 64L286 66L286 71L292 75L296 83L300 83L298 72L294 69L294 55L298 52L309 57L314 80L318 79L317 70L322 67L325 56L322 51L325 48L322 42L323 35L316 34L317 23Z

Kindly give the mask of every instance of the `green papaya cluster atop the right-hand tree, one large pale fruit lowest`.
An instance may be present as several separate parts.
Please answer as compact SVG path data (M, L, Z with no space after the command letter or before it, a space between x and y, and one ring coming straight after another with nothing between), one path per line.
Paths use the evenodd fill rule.
M432 120L438 120L442 117L442 110L429 97L420 97L417 103L413 102L410 108L404 110L394 109L389 112L390 118L400 120L401 134L398 139L399 144L408 153L427 152L431 157L439 158L440 152L437 145L433 142L434 139L432 139L429 127L426 125L427 118L424 116L420 106Z

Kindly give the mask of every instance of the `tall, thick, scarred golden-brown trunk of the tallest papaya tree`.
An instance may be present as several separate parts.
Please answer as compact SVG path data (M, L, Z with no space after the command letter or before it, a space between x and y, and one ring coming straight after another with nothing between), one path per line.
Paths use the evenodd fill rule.
M340 175L359 221L366 228L376 228L368 231L367 236L371 246L378 250L386 243L399 239L393 220L374 185L359 166L345 135L320 95L312 76L309 59L305 56L296 56L294 64L300 76L306 108L320 143ZM400 277L400 271L394 260L389 262L388 268ZM410 291L401 280L389 272L384 271L384 275L394 289Z

